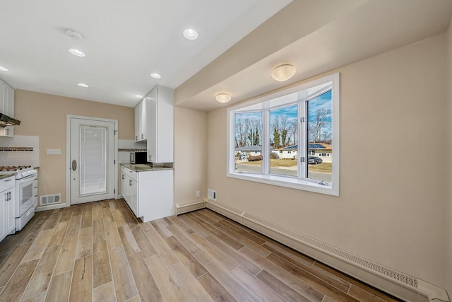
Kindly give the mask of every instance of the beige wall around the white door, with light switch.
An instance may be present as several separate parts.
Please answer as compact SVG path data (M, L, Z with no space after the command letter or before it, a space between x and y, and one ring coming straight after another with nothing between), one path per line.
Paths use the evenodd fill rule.
M61 193L66 202L66 115L118 120L119 139L133 139L133 108L65 98L32 91L15 92L15 117L21 121L16 135L40 137L39 193ZM46 149L61 149L61 156L48 156Z

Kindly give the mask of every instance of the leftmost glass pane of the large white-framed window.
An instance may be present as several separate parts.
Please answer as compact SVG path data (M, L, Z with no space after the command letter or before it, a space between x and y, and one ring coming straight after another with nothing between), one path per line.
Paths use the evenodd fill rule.
M262 113L234 114L235 170L262 173Z

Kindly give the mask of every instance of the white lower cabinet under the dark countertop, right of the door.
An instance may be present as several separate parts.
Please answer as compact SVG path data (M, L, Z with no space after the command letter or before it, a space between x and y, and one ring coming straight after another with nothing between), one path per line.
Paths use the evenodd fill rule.
M136 172L121 167L121 194L143 222L174 214L172 169Z

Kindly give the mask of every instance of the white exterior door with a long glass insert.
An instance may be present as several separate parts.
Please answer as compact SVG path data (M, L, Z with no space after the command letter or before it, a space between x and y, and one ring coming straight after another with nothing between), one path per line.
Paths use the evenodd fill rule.
M117 121L70 116L68 119L70 203L114 198Z

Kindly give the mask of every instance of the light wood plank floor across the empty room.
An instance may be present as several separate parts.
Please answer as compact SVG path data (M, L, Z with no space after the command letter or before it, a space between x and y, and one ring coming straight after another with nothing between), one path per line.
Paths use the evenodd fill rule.
M213 211L123 199L37 212L0 243L0 301L395 301Z

